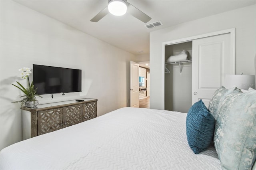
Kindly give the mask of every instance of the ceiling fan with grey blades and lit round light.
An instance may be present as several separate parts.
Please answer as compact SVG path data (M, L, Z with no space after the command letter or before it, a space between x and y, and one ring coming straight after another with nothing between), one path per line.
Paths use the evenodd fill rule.
M149 20L151 20L149 16L127 2L127 0L108 0L108 6L100 11L96 16L94 16L94 18L92 18L90 21L98 22L108 13L116 16L122 16L126 13L126 11L144 23L147 23Z

